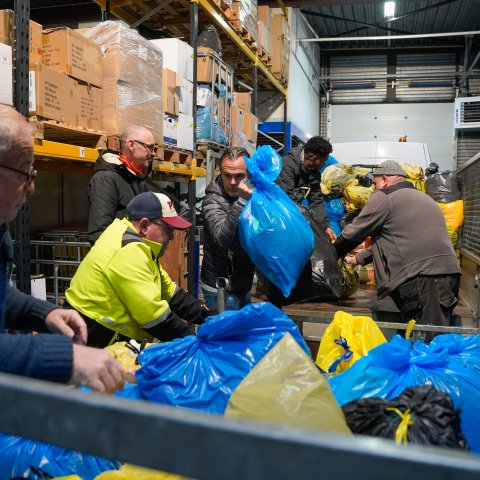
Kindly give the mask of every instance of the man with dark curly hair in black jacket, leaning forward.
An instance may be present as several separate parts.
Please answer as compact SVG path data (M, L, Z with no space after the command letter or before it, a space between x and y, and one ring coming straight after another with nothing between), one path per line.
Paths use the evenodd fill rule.
M330 142L322 137L310 138L303 148L293 148L282 158L282 171L276 183L293 201L302 203L306 200L318 224L330 239L335 240L320 190L320 169L330 153Z

